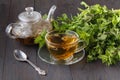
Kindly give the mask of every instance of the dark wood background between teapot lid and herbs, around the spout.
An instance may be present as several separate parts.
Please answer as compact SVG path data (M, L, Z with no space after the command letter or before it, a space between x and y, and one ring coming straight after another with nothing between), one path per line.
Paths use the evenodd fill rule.
M35 0L35 8L40 11L41 14L47 14L52 5L56 5L57 9L54 13L54 17L60 16L66 13L68 16L75 15L80 7L82 0Z

